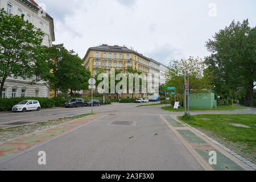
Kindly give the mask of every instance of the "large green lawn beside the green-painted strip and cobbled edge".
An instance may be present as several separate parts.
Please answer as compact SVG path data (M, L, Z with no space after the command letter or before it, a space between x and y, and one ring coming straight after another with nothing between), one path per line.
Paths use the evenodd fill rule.
M192 119L178 117L192 127L210 131L225 141L230 141L242 146L242 151L253 155L256 151L256 114L203 114L193 115ZM201 118L208 118L204 120ZM227 121L226 119L229 119ZM250 128L232 126L230 123L239 123Z

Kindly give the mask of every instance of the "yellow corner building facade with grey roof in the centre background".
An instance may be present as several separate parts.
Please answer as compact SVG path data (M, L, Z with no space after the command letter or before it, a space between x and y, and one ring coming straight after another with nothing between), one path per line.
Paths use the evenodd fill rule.
M97 74L97 69L105 69L105 73L109 73L110 69L117 69L122 73L127 73L126 69L132 67L137 71L148 75L150 73L150 59L142 54L133 51L125 46L101 46L91 47L84 56L84 66L88 69L92 76ZM110 98L106 94L106 98ZM139 94L111 94L112 99L118 98L138 98Z

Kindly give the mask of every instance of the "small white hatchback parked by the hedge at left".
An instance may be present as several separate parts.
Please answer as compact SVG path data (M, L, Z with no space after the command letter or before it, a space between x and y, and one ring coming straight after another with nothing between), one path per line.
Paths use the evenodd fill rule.
M17 105L13 106L13 109L11 109L13 112L14 111L22 111L26 112L27 110L37 110L39 111L41 109L40 103L38 101L34 100L26 100L26 101L21 101Z

